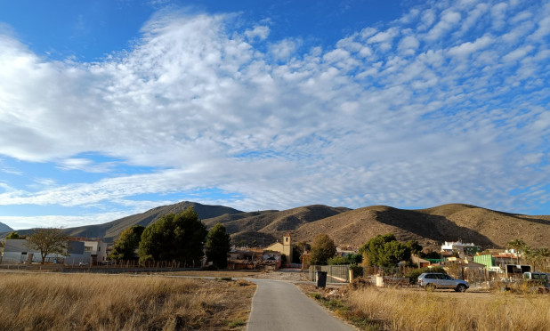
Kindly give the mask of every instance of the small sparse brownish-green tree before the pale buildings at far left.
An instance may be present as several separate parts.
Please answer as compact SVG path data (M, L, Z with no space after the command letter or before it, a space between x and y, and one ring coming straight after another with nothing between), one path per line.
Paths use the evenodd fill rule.
M27 246L40 251L41 264L44 264L48 254L69 254L69 236L62 229L36 229L27 237Z

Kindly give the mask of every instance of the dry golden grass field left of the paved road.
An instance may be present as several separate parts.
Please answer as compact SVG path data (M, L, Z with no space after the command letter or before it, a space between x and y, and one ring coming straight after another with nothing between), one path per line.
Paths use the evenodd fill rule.
M0 277L3 330L227 330L246 323L255 292L244 281L49 273Z

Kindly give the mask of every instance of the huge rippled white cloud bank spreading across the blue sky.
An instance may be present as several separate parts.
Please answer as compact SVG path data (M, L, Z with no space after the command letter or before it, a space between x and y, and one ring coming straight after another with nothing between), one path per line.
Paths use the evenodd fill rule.
M489 9L449 1L306 52L299 39L266 39L262 52L252 41L269 29L239 34L206 14L155 16L133 49L94 63L47 61L1 36L0 152L101 179L0 182L0 204L135 210L155 202L134 197L176 192L243 210L537 204L545 193L509 192L549 179L550 52L503 42L544 25L513 9L493 11L511 22L489 34ZM201 193L214 189L230 198Z

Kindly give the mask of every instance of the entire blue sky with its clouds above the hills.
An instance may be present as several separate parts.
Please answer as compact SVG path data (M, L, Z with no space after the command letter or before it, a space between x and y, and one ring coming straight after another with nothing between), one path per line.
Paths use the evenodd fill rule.
M0 222L550 214L548 1L0 0Z

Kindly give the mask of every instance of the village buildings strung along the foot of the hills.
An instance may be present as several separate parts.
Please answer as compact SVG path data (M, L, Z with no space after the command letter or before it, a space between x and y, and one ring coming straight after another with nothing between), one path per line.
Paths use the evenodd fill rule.
M112 245L103 242L101 238L70 238L69 246L64 254L46 254L44 264L41 264L41 252L31 249L27 245L26 238L8 238L2 243L2 255L0 267L10 268L39 268L66 267L77 269L117 268L127 269L131 267L135 272L140 272L144 265L137 262L113 261L109 258ZM309 265L309 251L304 246L296 246L289 233L281 240L265 247L236 246L232 245L228 254L227 270L256 270L269 272L272 270L293 269L301 270L306 279L318 280L319 271L326 273L328 283L350 283L353 279L370 276L371 281L378 286L410 286L415 281L408 281L406 274L410 270L445 270L456 279L468 281L472 287L489 288L494 282L513 283L530 275L533 271L547 271L546 260L530 261L537 263L535 266L528 264L522 252L516 249L485 249L474 243L464 243L460 240L444 242L437 251L429 254L412 254L409 262L397 263L394 268L376 268L367 265ZM297 252L302 250L301 252ZM336 246L335 257L345 258L351 254L359 254L359 247ZM420 257L427 255L429 257ZM329 263L330 264L330 263ZM157 268L183 269L179 263L158 262ZM201 259L200 270L207 270L212 266L206 261L206 256ZM148 266L149 268L151 265ZM189 268L188 268L189 269ZM150 270L150 269L148 269ZM378 280L376 280L378 276ZM382 280L380 280L382 279ZM547 276L546 276L547 279ZM381 281L383 283L381 283ZM546 284L547 288L547 284Z

